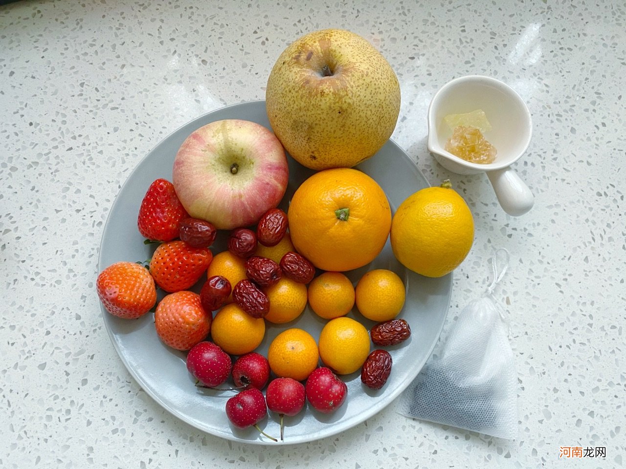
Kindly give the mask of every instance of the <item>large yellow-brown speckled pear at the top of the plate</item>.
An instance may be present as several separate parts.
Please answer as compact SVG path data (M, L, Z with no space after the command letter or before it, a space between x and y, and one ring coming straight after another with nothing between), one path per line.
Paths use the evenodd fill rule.
M361 36L342 29L305 34L280 54L265 106L287 152L312 169L352 167L396 127L398 78Z

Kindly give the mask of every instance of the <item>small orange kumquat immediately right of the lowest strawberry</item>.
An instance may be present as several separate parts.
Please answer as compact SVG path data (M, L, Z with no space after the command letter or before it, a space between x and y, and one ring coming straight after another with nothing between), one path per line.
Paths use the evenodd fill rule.
M213 318L213 342L230 355L244 355L257 348L265 335L263 318L253 318L235 303L229 303Z

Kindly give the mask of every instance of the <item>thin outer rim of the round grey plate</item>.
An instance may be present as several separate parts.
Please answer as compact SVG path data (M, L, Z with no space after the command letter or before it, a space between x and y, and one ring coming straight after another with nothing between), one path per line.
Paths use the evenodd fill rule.
M190 121L187 121L186 123L183 123L182 125L178 126L176 129L174 129L173 131L171 131L170 133L167 134L167 136L165 136L164 138L160 139L151 149L150 151L148 151L136 164L135 167L132 169L132 171L130 171L130 173L128 174L128 176L126 176L126 179L123 181L123 183L120 184L120 189L118 190L118 193L115 195L115 199L113 199L113 203L111 203L110 205L110 209L109 209L109 213L106 216L106 220L105 220L105 225L102 231L102 236L100 239L100 245L98 246L98 263L97 263L97 268L98 268L98 273L96 275L98 275L100 273L100 271L103 269L103 266L101 265L101 261L102 261L102 248L103 248L103 244L105 241L105 235L106 233L108 233L108 231L111 228L111 225L109 223L110 221L110 217L111 214L115 211L115 207L116 204L119 203L120 201L120 193L121 190L123 189L123 187L125 186L126 183L128 183L128 180L130 178L133 177L133 175L140 171L140 166L141 164L150 157L150 155L160 146L160 144L163 143L163 141L166 141L167 139L170 139L174 134L178 133L178 131L180 131L182 128L189 126L191 124L193 124L194 122L197 121L202 121L204 122L208 116L210 116L211 114L214 113L218 113L218 112L223 112L226 111L227 109L230 108L235 108L238 106L247 106L247 105L258 105L260 103L265 103L265 99L254 99L252 101L242 101L240 103L235 103L235 104L229 104L228 106L222 106L221 108L218 109L213 109L213 111L209 111L208 113L204 113L200 116L197 116L196 118L191 119ZM271 130L271 128L270 128ZM394 146L399 153L401 153L403 155L404 158L407 158L409 160L409 162L411 163L411 171L416 175L416 177L423 179L424 183L426 183L426 186L430 186L430 184L428 183L428 180L426 179L426 177L424 176L423 173L421 173L421 171L419 171L419 168L417 166L417 164L413 161L413 159L411 159L409 157L409 155L406 153L406 151L404 151L403 148L401 148L396 142L394 142L391 138L389 140L387 140L386 143L391 144L392 146ZM118 355L118 358L121 360L121 362L123 363L124 367L126 368L126 371L128 371L128 373L130 373L130 375L133 377L133 379L136 381L137 385L141 388L141 390L143 390L146 394L148 394L154 401L156 401L156 403L158 403L158 405L160 405L163 409L167 410L168 413L170 413L172 416L178 418L178 420L182 420L185 423L187 423L188 425L192 426L193 428L196 428L199 431L203 431L204 433L208 433L209 435L212 436L217 436L218 438L224 438L225 440L230 440L230 441L235 441L237 443L245 443L245 444L249 444L249 445L261 445L261 446L270 446L270 445L299 445L299 444L303 444L303 443L310 443L312 441L317 441L317 440L321 440L323 438L328 438L329 436L334 436L337 435L339 433L343 433L346 430L349 430L351 428L354 428L355 426L359 425L360 423L364 422L365 420L367 420L368 418L370 418L371 416L376 415L377 413L379 413L380 411L384 410L385 408L387 408L389 405L391 405L393 403L394 400L396 400L396 398L398 398L398 396L408 387L408 384L413 381L416 376L418 376L419 372L422 370L422 368L424 367L426 361L428 361L428 359L430 358L430 356L433 354L433 350L435 348L435 346L437 345L437 343L439 342L439 338L441 337L441 331L443 330L443 326L446 323L446 319L448 317L448 313L449 313L449 309L450 309L450 304L451 304L451 298L452 298L452 290L453 290L453 273L449 273L446 276L441 277L441 279L447 280L447 285L446 285L446 298L444 298L444 304L446 305L443 311L443 317L441 320L441 325L439 326L439 330L436 331L436 340L433 341L433 343L431 344L431 346L428 349L428 353L426 353L424 360L422 361L422 363L419 363L419 366L416 366L414 368L414 373L409 373L403 381L401 381L399 383L398 386L396 386L396 388L394 388L393 390L387 390L387 403L385 405L383 405L381 408L377 408L377 406L369 406L368 408L366 408L364 411L362 411L361 413L357 414L356 416L351 418L351 422L350 425L346 426L346 424L344 423L344 425L332 425L332 426L328 426L327 429L328 431L324 432L324 435L322 436L316 436L316 433L309 433L309 436L300 439L299 441L269 441L269 440L265 440L263 438L257 438L255 440L244 440L242 438L238 438L234 433L231 434L222 434L222 433L213 433L212 431L210 431L210 429L208 428L202 428L201 426L197 425L197 423L189 418L187 418L185 415L181 415L177 410L175 410L174 408L172 408L170 405L168 405L167 403L165 403L165 401L162 400L162 398L160 398L160 396L158 396L158 394L156 394L152 389L151 386L149 386L144 380L143 378L141 378L135 371L135 369L130 366L130 363L128 363L128 361L126 360L125 354L122 353L120 345L118 344L118 342L116 341L116 335L113 333L113 330L111 330L111 328L108 326L108 323L106 321L106 314L108 314L108 312L105 310L104 306L100 303L100 301L98 301L98 303L100 303L100 311L102 313L103 316L103 323L105 325L105 329L108 333L109 339L111 341L111 343L113 344L113 348L116 351L116 354ZM339 423L339 422L337 422ZM319 433L319 432L317 432Z

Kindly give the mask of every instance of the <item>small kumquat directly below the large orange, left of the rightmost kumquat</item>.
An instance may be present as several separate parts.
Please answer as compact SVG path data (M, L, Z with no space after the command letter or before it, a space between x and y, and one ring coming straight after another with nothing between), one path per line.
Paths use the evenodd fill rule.
M341 272L324 272L309 284L309 305L324 319L345 316L354 306L354 286Z

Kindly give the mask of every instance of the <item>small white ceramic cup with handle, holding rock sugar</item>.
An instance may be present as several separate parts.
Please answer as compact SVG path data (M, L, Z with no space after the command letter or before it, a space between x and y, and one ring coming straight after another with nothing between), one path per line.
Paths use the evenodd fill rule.
M444 117L476 109L483 109L491 124L485 138L498 152L493 163L470 163L444 149L452 135ZM500 206L513 216L528 212L535 201L511 168L528 148L531 136L532 120L526 103L510 86L488 76L469 75L449 81L434 95L428 108L428 150L434 158L453 173L487 173Z

